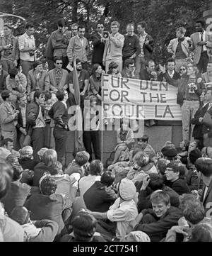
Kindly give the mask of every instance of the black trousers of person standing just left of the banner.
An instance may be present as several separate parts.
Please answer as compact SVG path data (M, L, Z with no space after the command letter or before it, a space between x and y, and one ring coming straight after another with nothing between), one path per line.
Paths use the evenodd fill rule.
M92 146L95 159L101 160L100 155L100 133L99 130L85 130L83 133L83 143L86 151L90 154L89 162L92 161Z

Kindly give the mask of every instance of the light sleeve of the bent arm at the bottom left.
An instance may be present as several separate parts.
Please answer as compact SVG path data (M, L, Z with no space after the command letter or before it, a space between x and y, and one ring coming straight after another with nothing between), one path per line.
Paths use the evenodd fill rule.
M55 221L35 221L36 228L41 228L40 233L32 238L32 242L53 242L58 231L58 224Z

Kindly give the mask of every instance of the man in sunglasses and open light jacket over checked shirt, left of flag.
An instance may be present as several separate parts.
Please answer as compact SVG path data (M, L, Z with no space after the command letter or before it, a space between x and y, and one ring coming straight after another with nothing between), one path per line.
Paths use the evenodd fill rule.
M67 79L69 72L62 68L62 57L54 57L54 69L47 73L45 78L45 89L56 92L68 88Z

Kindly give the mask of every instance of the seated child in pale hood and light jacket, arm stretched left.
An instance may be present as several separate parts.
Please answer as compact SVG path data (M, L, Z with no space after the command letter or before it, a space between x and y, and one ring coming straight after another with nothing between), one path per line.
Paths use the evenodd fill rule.
M138 216L137 201L138 193L133 182L129 179L122 179L118 187L118 198L105 213L88 211L95 218L116 222L116 237L123 238L132 231L131 223ZM98 231L98 230L97 230Z

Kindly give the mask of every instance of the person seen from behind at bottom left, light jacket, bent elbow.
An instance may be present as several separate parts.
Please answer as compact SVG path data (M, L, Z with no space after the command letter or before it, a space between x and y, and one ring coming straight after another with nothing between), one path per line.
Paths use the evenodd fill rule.
M30 213L23 206L16 206L11 212L11 218L22 226L25 242L53 242L58 231L55 221L31 221Z

